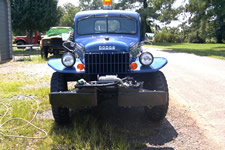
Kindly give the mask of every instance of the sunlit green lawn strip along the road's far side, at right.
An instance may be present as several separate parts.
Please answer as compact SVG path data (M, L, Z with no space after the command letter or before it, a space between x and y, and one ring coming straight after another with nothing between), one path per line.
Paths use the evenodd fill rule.
M190 53L199 56L209 56L225 60L225 44L156 43L149 47L166 49L174 52Z

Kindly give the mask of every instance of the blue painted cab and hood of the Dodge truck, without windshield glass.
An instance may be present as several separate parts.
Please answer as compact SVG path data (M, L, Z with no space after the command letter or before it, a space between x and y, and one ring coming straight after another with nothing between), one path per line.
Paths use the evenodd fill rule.
M136 34L92 34L92 35L79 35L78 34L78 22L81 19L87 17L122 17L127 16L133 18L137 22ZM85 48L85 52L99 51L99 46L114 45L117 51L129 51L129 48L136 42L141 41L141 24L139 14L133 11L123 10L94 10L94 11L82 11L76 14L74 18L74 39L75 43L79 43ZM109 40L105 40L105 37L109 37Z

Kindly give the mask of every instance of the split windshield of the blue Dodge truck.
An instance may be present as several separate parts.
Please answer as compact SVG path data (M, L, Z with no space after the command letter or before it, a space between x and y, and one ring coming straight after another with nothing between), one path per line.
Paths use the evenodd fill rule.
M128 17L90 17L78 22L78 34L136 34L137 22Z

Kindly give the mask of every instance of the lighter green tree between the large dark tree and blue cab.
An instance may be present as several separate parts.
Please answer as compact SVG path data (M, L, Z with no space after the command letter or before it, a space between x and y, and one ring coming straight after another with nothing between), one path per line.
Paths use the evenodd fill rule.
M80 8L71 3L66 3L63 7L60 7L60 9L63 12L62 17L60 18L60 26L70 26L73 28L74 16L80 11Z

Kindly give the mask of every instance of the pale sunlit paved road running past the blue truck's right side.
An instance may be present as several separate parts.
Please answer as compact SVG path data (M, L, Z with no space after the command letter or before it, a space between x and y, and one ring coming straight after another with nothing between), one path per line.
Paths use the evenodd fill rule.
M167 50L145 50L168 59L162 71L170 94L189 107L206 135L225 149L225 61Z

